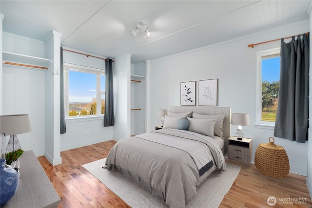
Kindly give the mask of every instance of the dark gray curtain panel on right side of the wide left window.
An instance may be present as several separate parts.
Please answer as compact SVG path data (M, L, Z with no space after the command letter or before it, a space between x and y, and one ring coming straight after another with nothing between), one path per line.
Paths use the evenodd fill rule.
M113 63L105 60L105 110L104 126L114 126L114 93L113 93Z

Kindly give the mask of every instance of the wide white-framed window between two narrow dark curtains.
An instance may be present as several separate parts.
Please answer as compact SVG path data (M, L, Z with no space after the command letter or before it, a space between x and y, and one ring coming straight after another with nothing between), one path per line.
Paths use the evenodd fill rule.
M105 70L64 63L65 117L104 114Z

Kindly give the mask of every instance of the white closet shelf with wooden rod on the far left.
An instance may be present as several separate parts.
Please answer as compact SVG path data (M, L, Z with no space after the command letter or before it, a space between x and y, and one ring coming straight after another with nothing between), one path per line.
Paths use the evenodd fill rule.
M48 69L47 66L52 63L52 60L40 57L32 57L22 54L15 54L11 52L2 52L2 59L4 63L11 65L19 65L40 69ZM14 62L14 63L12 63Z

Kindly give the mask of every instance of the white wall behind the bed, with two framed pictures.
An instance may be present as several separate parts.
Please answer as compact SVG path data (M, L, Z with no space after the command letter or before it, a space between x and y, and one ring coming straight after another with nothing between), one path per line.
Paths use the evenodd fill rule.
M244 126L246 137L253 138L253 154L260 143L267 143L273 136L273 128L263 129L256 121L256 53L280 47L280 41L257 45L248 44L288 37L310 31L309 21L297 22L274 30L236 38L198 48L192 51L150 61L149 81L150 129L155 129L160 118L158 109L180 105L180 82L218 79L218 101L221 107L232 107L232 113L249 113L251 125ZM197 88L197 87L196 87ZM196 95L198 105L198 95ZM232 135L235 129L232 127ZM289 156L291 172L307 175L308 144L275 138L275 144L283 146ZM253 160L254 162L254 160Z

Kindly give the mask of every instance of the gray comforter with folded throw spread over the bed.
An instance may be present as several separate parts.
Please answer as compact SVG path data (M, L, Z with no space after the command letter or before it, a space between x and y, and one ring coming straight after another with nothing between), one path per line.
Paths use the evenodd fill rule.
M199 174L209 162L212 166L206 166ZM105 165L108 169L119 169L150 189L153 195L164 197L170 208L185 208L185 204L196 196L197 187L215 169L226 168L222 151L213 138L171 129L118 141L109 152Z

